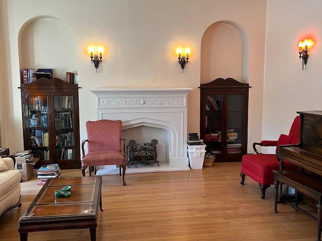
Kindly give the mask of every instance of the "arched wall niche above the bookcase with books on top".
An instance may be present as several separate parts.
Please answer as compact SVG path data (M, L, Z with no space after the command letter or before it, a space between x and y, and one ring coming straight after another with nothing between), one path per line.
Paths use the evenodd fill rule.
M62 80L66 80L66 72L77 73L74 33L55 17L27 21L19 31L18 48L20 69L53 69L53 76Z

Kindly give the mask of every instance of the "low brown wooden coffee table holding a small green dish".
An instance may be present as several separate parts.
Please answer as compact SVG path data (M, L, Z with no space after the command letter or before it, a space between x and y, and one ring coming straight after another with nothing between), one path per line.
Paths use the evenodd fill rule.
M71 186L69 197L56 198L54 191ZM102 209L102 177L56 178L48 180L19 219L20 240L28 232L89 228L96 240L98 208Z

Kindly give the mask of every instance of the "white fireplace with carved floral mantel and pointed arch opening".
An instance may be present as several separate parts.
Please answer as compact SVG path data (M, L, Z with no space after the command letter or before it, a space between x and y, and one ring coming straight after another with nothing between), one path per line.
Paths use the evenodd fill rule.
M192 88L91 89L96 95L97 119L120 119L126 145L157 139L153 165L126 169L126 173L188 171L187 95ZM115 166L99 166L98 174L118 173Z

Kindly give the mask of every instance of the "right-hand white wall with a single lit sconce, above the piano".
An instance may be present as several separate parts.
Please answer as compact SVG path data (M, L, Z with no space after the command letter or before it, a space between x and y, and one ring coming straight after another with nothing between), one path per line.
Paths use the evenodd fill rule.
M263 138L288 134L296 111L322 109L322 2L270 0L267 8ZM311 38L302 70L298 43Z

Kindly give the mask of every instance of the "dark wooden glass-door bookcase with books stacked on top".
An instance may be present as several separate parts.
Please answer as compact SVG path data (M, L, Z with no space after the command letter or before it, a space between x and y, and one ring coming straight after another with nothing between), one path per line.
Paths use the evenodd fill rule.
M81 167L78 85L58 78L21 84L24 148L61 169Z

